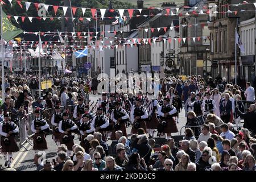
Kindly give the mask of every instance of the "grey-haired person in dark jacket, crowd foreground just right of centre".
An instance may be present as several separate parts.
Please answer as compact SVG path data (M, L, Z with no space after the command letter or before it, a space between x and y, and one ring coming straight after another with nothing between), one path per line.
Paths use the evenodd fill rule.
M148 144L147 135L138 135L137 139L134 140L134 143L131 144L133 148L137 148L138 154L141 158L144 158L145 163L149 164L150 156L152 152L152 147Z

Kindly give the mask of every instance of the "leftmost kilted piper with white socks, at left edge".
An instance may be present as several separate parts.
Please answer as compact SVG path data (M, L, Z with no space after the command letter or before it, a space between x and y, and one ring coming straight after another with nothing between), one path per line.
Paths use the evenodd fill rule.
M4 121L0 123L1 146L3 156L5 156L5 166L10 167L13 152L19 151L15 141L15 135L19 133L19 127L10 121L9 114L3 114Z

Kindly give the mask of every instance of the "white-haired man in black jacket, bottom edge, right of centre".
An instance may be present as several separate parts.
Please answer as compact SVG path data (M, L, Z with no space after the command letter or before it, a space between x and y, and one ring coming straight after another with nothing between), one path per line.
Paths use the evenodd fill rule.
M212 150L210 147L205 147L201 158L196 163L196 171L210 171L211 165L209 164L209 159L212 156Z

